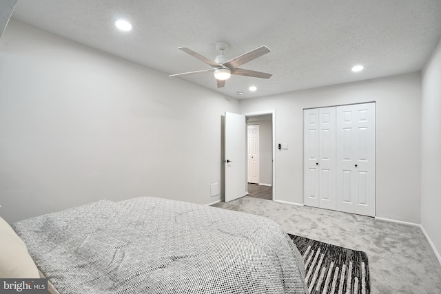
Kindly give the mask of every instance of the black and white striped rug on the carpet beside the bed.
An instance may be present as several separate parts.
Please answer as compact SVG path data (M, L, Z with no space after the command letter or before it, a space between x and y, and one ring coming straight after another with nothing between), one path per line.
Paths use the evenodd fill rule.
M288 235L302 253L309 293L371 293L365 252Z

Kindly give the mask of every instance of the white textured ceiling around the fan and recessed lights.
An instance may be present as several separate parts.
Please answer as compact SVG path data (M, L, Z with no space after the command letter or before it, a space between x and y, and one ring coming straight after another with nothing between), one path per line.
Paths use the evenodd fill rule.
M12 18L164 74L210 68L180 46L214 59L217 41L230 58L266 45L241 67L268 80L232 76L217 89L212 73L179 77L236 98L418 72L441 39L440 0L19 0ZM133 30L116 30L119 18Z

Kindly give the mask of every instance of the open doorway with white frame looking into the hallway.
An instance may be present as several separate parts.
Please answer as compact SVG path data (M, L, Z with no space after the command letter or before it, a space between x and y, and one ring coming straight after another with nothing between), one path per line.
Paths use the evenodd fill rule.
M274 200L274 110L244 115L248 131L247 196Z

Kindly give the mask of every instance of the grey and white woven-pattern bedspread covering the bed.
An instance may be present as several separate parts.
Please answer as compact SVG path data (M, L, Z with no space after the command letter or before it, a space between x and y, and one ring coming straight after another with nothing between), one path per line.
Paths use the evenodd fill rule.
M60 293L306 293L276 222L162 198L99 201L12 225Z

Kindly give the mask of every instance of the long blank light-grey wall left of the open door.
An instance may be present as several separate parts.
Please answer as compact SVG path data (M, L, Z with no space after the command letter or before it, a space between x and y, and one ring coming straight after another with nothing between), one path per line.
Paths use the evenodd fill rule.
M206 204L238 101L10 21L0 40L0 215L136 196Z

